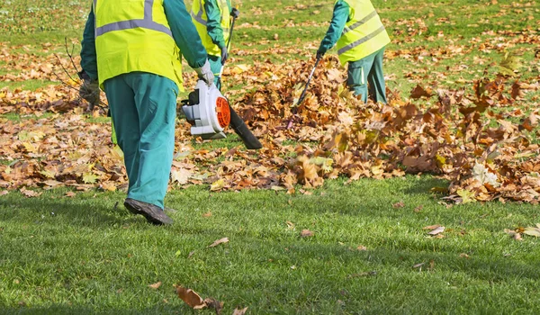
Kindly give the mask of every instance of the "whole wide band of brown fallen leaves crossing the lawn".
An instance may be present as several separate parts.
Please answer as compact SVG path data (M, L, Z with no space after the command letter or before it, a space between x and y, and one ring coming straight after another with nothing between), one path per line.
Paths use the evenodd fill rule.
M302 192L309 193L306 188L338 176L356 180L429 173L449 180L446 199L451 202L540 202L535 143L540 113L524 98L538 89L537 83L485 76L459 90L418 85L408 97L388 91L388 104L362 103L344 88L337 58L328 57L293 116L312 66L311 60L229 67L227 78L245 86L229 97L237 98L235 108L264 148L250 152L240 143L194 148L189 124L180 121L171 187L211 184L212 191L295 193L302 184ZM115 190L126 185L110 125L85 119L76 85L67 82L73 86L0 90L0 112L38 116L1 121L0 146L9 162L0 166L1 187ZM103 115L99 111L94 116ZM40 116L43 112L57 113ZM287 130L292 117L293 129Z

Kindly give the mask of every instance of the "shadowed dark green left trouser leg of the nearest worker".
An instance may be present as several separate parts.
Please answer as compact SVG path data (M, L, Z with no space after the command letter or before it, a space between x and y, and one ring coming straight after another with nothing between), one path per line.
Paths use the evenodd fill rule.
M104 82L109 102L112 126L118 145L124 155L128 173L129 189L139 177L139 116L135 106L133 89L125 81L126 75L114 76Z

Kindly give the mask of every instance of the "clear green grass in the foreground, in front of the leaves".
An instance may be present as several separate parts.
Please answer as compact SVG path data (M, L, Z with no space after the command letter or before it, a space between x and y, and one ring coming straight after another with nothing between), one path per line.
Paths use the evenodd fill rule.
M0 205L0 305L6 313L186 313L172 287L184 284L225 302L226 313L237 305L276 314L539 310L538 241L503 231L537 221L536 207L446 209L428 193L444 184L337 180L293 196L190 187L167 196L178 210L167 228L115 209L122 193L9 193ZM429 238L422 228L432 224L446 226L446 238ZM302 229L315 235L302 238ZM207 248L223 237L229 243Z

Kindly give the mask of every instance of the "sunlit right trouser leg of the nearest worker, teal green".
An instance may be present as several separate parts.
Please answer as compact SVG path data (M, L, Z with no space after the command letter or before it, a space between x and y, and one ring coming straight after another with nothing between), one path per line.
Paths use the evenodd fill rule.
M124 76L135 93L140 134L139 172L130 186L128 198L163 209L175 149L178 87L164 76L148 73Z

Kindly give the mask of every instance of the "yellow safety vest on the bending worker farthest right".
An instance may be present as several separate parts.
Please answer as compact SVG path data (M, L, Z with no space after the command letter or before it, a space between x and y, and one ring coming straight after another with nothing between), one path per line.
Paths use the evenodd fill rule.
M390 37L370 0L344 1L349 5L349 16L337 45L342 65L365 58L390 43Z

